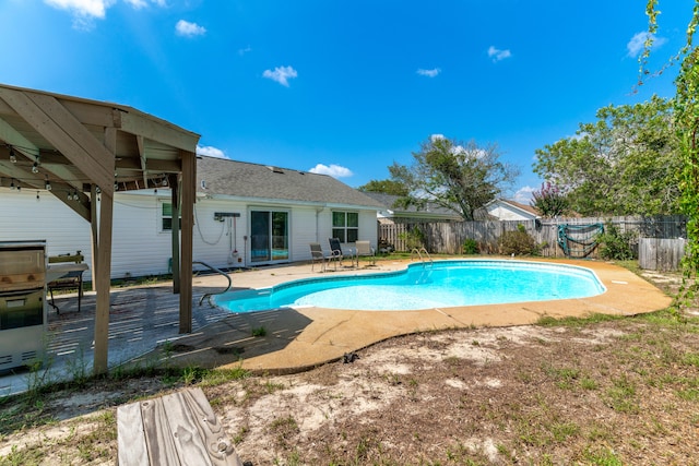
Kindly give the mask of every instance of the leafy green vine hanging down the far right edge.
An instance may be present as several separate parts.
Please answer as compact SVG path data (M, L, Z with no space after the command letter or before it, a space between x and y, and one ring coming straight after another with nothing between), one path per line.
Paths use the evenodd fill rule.
M649 31L645 49L639 58L641 62L641 80L651 74L647 69L648 57L657 31L657 0L648 0L645 12L649 16ZM679 72L675 94L674 128L679 139L679 191L680 208L687 215L687 246L683 262L685 285L679 294L683 298L691 299L699 287L697 273L699 272L699 50L694 45L694 36L699 24L699 1L695 1L692 15L687 26L687 43L682 47L668 64L679 61ZM662 71L662 70L661 70Z

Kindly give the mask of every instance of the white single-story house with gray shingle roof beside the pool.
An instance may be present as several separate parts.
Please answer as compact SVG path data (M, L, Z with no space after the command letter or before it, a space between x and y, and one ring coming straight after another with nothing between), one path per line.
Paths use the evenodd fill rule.
M329 250L330 237L377 244L382 205L330 176L215 157L198 157L197 174L194 261L220 268L305 261L310 242ZM112 278L168 272L171 212L169 187L115 193ZM0 240L44 239L48 255L80 250L91 263L90 225L51 193L0 188Z

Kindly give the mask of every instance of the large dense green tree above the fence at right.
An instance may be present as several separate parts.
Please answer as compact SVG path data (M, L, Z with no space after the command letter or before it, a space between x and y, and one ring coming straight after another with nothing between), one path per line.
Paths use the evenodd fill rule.
M679 210L673 103L657 96L607 106L576 136L536 150L534 171L554 180L582 215L656 215Z

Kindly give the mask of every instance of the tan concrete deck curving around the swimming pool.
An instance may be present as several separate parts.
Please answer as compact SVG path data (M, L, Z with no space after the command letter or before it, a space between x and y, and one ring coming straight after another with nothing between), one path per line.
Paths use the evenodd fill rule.
M537 260L534 260L537 261ZM633 315L667 308L672 298L618 265L599 261L543 261L595 272L606 292L583 299L472 306L422 311L348 311L322 308L284 309L232 314L178 338L163 357L178 366L242 367L254 372L291 373L337 360L383 339L445 328L529 325L543 316L556 319L593 313ZM376 267L341 271L357 274L401 270L405 262L378 262ZM310 265L260 268L233 274L236 288L262 288L332 273L310 273ZM212 277L213 279L213 277ZM223 279L220 277L220 279ZM196 311L194 311L196 312ZM264 328L263 336L253 336Z

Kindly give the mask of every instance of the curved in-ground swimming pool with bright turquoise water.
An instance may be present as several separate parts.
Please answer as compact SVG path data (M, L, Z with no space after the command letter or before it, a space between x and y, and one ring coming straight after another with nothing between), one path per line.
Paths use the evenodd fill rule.
M588 298L606 289L589 268L526 261L413 263L398 272L306 278L214 298L230 312L315 306L406 311Z

